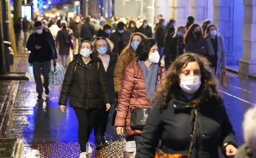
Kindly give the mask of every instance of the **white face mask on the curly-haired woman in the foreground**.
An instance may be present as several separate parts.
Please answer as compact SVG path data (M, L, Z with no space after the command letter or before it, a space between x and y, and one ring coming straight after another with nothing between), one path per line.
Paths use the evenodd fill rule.
M201 86L201 76L181 77L179 86L184 92L194 94Z

